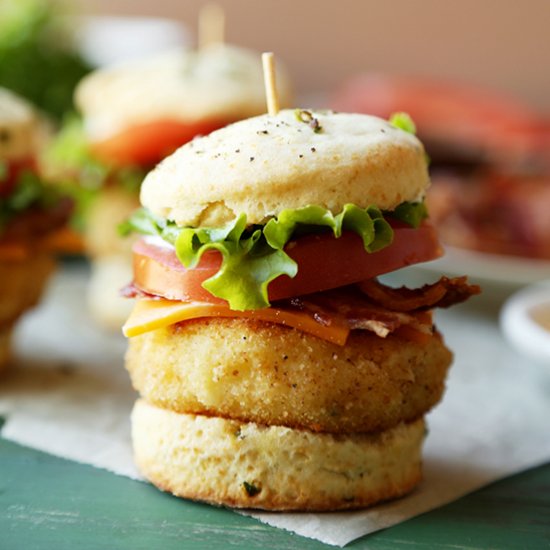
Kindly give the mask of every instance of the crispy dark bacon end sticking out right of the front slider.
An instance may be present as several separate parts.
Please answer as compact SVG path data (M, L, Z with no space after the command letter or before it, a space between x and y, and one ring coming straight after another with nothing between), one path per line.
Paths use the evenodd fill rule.
M439 281L421 288L392 288L376 279L369 279L357 285L376 304L392 311L427 310L434 307L450 307L464 302L470 296L479 294L478 285L468 284L467 277L441 277Z

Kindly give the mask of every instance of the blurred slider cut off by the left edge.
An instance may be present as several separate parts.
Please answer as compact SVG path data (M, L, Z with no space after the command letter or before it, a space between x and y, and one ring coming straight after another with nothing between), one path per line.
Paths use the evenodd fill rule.
M71 202L45 186L37 155L47 132L25 100L0 88L0 370L16 321L42 294L67 243Z

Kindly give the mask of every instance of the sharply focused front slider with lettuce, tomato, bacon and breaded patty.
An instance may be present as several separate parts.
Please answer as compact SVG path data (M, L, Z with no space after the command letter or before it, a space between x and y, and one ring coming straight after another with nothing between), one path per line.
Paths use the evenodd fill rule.
M479 291L377 277L437 258L418 139L368 115L283 110L197 138L125 229L126 365L143 475L267 510L359 508L421 478L451 352L432 309Z

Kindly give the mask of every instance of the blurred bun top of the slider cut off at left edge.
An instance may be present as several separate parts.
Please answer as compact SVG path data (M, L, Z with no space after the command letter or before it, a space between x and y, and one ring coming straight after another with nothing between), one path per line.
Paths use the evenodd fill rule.
M32 156L40 141L40 124L30 103L0 88L0 160Z

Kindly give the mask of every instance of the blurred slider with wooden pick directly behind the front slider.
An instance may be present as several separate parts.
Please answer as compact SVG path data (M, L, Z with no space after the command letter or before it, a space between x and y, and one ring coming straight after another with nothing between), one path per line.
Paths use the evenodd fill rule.
M121 21L121 42L127 29ZM116 36L112 27L104 30ZM284 69L278 77L287 104ZM258 52L226 44L224 14L208 6L199 19L197 48L172 48L95 70L78 84L75 103L79 116L65 120L44 167L51 180L65 182L79 206L92 260L91 312L118 330L131 308L120 289L132 279L132 241L120 237L118 227L138 207L145 173L195 136L264 112L261 59Z

